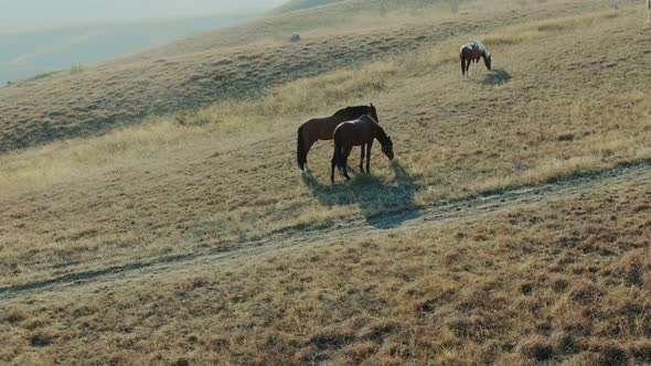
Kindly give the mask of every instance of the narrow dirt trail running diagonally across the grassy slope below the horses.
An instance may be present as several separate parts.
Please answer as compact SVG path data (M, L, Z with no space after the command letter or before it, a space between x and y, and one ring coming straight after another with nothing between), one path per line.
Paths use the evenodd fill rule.
M607 190L609 186L632 181L647 183L651 186L651 161L622 164L607 171L584 174L547 184L513 187L492 194L476 195L421 209L402 211L372 218L355 218L319 229L289 228L281 233L270 235L265 239L243 243L230 248L209 249L189 255L156 258L148 261L138 261L18 286L2 287L0 288L0 301L39 292L55 291L64 287L82 283L110 282L127 274L136 277L145 274L153 276L154 273L200 265L216 265L231 259L260 256L282 248L306 244L313 245L313 243L337 240L343 237L364 235L378 230L472 218L488 213L544 203L563 196L594 193L600 189Z

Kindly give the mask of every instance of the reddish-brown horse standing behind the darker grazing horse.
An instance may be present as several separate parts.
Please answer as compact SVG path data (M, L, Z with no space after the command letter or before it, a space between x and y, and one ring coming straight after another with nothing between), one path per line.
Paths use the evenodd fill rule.
M375 106L346 107L334 115L324 118L312 118L298 128L298 142L296 147L296 160L298 168L305 170L308 163L308 152L317 140L332 140L334 129L339 123L357 119L364 115L372 116L376 121L377 110Z

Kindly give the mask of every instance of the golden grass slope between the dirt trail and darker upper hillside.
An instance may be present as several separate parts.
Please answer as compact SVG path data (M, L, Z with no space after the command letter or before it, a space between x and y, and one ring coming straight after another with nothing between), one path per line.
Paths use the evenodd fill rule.
M649 159L649 84L639 80L651 45L638 15L584 15L578 29L572 19L547 21L572 25L493 47L497 72L466 82L445 62L447 49L426 50L181 115L186 126L168 117L4 155L0 282L227 247ZM604 44L608 52L583 56ZM512 78L488 83L503 74ZM376 152L374 176L330 186L331 147L319 143L313 174L301 181L296 126L370 98L397 164Z

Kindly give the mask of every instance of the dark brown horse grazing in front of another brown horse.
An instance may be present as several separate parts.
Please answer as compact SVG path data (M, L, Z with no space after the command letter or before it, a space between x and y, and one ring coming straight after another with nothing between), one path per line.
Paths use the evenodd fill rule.
M373 148L373 140L377 139L382 143L382 152L388 158L393 159L393 142L386 136L382 127L371 116L362 116L356 120L340 123L334 129L334 154L332 155L332 170L330 172L330 180L334 183L334 166L343 173L346 180L351 177L348 175L346 162L348 157L354 146L362 147L362 158L360 160L360 170L364 173L364 150L366 153L366 174L371 174L371 148Z

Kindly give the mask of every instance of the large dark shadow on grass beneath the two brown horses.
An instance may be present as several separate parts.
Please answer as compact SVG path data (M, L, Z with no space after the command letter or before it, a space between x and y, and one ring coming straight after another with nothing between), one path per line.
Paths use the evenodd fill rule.
M369 225L376 228L394 228L404 222L417 218L414 197L420 187L417 179L410 176L403 165L392 162L394 180L365 175L349 169L355 175L348 182L337 173L340 180L335 184L323 184L311 174L303 174L302 180L319 202L328 207L357 205Z

